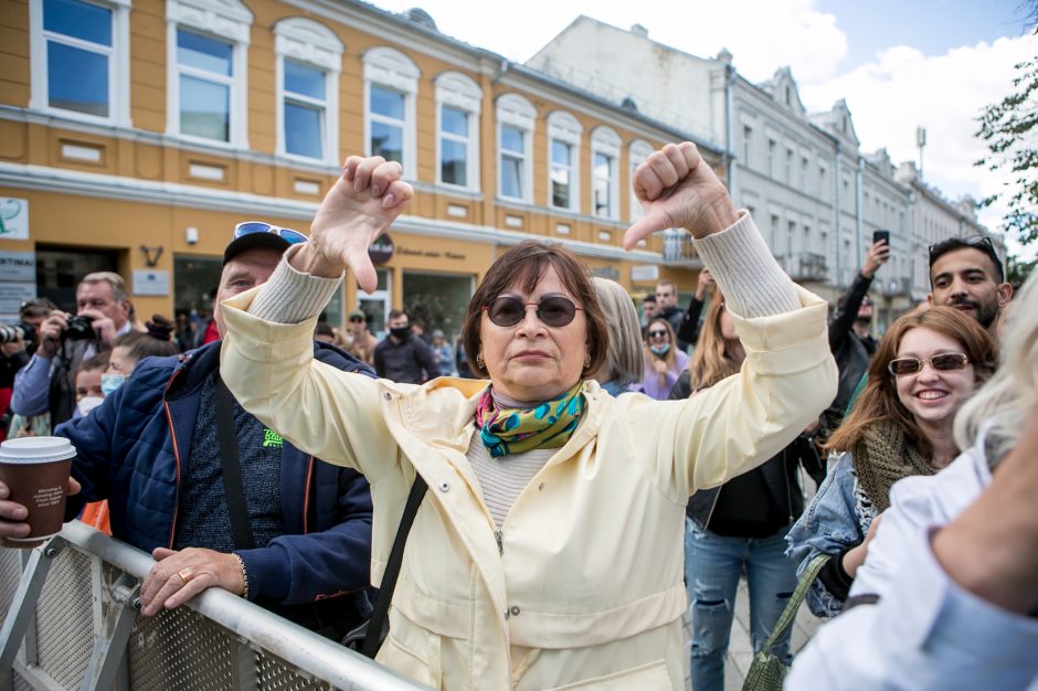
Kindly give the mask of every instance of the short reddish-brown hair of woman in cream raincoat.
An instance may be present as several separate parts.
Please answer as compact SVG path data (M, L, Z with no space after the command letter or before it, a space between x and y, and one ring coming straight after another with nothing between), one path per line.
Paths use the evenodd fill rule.
M468 301L468 311L462 325L462 342L465 346L468 366L474 373L489 376L486 365L476 362L476 357L483 350L479 337L483 308L515 285L526 293L532 293L549 267L559 274L562 285L576 299L578 306L583 308L587 321L587 352L591 363L584 368L581 376L587 376L602 368L608 351L610 334L599 299L595 297L591 274L562 245L527 240L494 261L483 283Z

